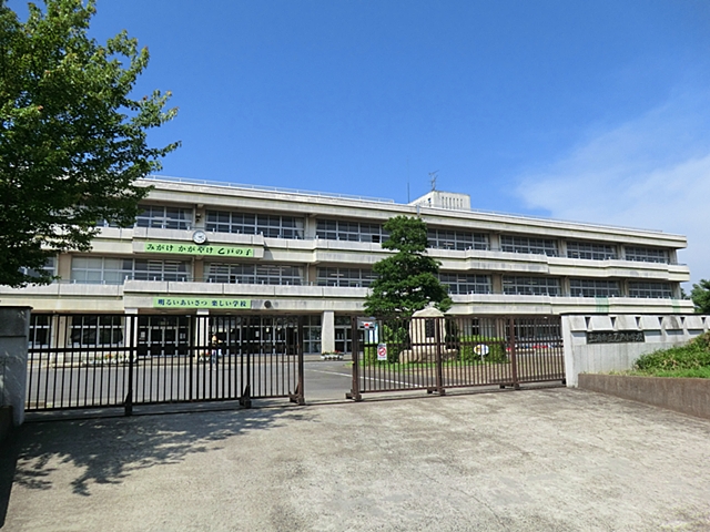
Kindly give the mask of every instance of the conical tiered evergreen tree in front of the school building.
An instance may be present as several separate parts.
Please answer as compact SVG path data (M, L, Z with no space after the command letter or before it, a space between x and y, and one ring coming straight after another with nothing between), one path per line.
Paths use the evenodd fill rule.
M426 253L426 224L420 218L395 216L384 228L389 238L382 247L397 253L373 266L377 278L365 299L365 311L377 317L410 317L429 303L448 310L452 300L437 277L439 263Z

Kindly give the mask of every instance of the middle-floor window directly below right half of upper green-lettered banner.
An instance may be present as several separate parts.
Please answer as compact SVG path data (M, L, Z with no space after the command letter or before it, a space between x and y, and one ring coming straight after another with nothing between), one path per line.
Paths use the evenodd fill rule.
M303 268L285 264L220 264L206 265L207 283L240 283L244 285L302 285Z

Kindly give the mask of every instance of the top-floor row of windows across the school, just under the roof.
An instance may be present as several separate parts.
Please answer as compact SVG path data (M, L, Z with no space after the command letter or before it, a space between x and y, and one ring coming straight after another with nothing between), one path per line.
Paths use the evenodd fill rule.
M192 209L165 206L144 206L136 218L139 227L165 229L190 229ZM270 238L304 238L304 218L273 214L236 213L230 211L207 211L206 231L216 233L239 233L264 235ZM388 233L382 224L342 219L318 219L316 237L329 241L382 243ZM434 249L490 249L489 236L484 233L429 228L428 246ZM500 250L534 255L559 256L558 241L527 236L500 236ZM627 260L645 263L668 263L666 249L625 246ZM617 246L588 242L568 242L567 257L589 260L608 260L618 257Z

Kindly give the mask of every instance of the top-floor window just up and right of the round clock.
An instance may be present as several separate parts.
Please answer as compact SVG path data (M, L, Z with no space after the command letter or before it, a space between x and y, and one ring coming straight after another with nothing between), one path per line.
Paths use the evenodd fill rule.
M207 211L205 228L267 238L303 238L303 218L293 216Z

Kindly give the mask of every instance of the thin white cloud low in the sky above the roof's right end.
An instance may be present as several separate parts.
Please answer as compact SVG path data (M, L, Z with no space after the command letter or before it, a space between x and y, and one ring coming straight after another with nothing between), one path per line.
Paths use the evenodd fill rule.
M693 283L710 279L709 103L678 96L597 131L546 168L521 175L517 194L555 218L686 235L679 260Z

